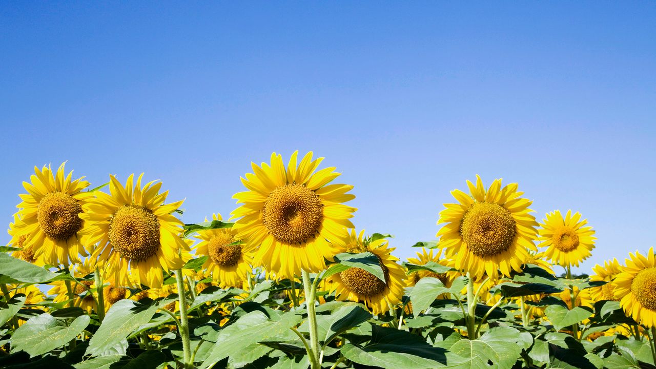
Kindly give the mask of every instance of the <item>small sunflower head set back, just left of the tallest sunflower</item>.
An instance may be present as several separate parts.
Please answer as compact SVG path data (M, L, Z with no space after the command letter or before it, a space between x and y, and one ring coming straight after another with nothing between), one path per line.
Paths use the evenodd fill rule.
M214 214L212 219L220 221L222 217ZM248 248L235 244L236 233L232 228L215 228L199 230L195 236L201 240L195 247L196 255L209 256L203 269L207 269L222 288L241 287L241 282L253 270L253 255Z

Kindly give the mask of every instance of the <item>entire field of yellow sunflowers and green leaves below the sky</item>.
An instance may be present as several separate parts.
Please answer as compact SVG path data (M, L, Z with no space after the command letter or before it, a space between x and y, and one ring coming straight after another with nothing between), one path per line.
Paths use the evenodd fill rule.
M655 366L652 249L574 275L581 213L539 222L517 183L477 176L401 261L322 160L252 163L230 217L194 224L143 174L35 167L0 253L0 367Z

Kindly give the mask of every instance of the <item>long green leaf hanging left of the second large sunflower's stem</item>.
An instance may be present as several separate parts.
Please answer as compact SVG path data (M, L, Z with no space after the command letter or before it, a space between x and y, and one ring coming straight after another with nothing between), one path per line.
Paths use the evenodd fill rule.
M107 312L98 331L91 337L87 355L104 355L108 350L118 349L125 353L125 338L143 324L148 323L157 310L156 305L144 305L131 299L118 301Z

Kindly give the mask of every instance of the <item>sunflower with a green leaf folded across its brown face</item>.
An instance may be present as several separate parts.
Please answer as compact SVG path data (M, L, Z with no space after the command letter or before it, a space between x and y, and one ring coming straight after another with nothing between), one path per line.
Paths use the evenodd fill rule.
M360 268L349 268L346 271L333 274L327 278L328 284L335 289L335 297L339 301L361 301L374 314L383 314L394 305L401 303L403 290L405 288L405 271L396 261L398 258L392 256L394 248L389 248L388 241L384 239L367 242L356 231L351 230L350 242L346 250L348 252L360 253L369 251L378 258L385 281Z

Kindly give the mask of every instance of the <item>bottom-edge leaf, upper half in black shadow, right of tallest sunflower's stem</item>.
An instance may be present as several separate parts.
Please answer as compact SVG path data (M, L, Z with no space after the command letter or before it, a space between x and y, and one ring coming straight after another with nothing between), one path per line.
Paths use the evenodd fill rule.
M372 324L371 341L364 347L346 343L342 355L368 366L395 369L429 369L462 363L462 358L449 357L440 347L432 347L422 337L403 330Z

